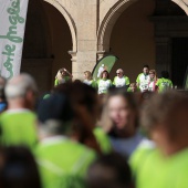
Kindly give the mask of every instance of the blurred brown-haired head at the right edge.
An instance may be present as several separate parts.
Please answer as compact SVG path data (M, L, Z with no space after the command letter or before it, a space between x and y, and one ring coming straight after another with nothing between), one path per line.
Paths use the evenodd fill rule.
M142 125L154 133L161 127L166 139L176 143L188 136L188 96L176 91L153 95L143 106Z

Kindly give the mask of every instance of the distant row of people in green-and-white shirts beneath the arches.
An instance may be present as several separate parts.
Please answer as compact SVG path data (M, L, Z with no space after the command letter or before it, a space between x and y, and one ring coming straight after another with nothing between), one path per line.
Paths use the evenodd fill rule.
M155 70L149 70L148 65L144 65L143 72L138 74L136 82L130 83L129 77L124 74L122 69L116 71L114 80L109 79L109 73L106 67L98 70L98 79L93 80L90 71L84 72L83 83L91 85L97 90L98 94L106 94L109 87L126 87L127 92L158 92L161 93L173 88L173 82L169 80L169 73L167 71L161 72L161 76L157 76ZM66 74L67 73L67 74ZM69 82L72 79L72 74L65 69L60 69L54 85L59 83Z

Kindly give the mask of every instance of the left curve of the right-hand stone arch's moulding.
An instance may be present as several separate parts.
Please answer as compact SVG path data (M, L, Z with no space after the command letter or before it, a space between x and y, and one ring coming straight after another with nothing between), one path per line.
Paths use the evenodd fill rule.
M119 15L127 9L132 3L137 0L119 0L116 2L103 19L98 32L97 32L97 51L108 52L109 51L109 39L113 27Z

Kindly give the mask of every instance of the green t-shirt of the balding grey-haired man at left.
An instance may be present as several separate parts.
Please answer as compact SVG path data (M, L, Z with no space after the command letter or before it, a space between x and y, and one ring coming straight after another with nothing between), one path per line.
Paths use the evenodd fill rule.
M3 146L36 144L36 116L29 109L9 109L0 115L0 142Z

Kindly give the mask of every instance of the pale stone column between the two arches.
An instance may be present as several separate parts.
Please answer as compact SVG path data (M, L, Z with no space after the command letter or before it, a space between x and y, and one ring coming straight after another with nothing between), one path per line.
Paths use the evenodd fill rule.
M83 80L84 71L96 64L97 0L80 0L75 20L77 52L73 60L74 79Z

